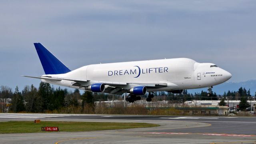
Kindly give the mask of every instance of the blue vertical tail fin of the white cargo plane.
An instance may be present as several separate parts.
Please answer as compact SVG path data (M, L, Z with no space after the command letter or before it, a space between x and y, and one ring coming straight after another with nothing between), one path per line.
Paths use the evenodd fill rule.
M42 44L34 43L36 52L39 56L41 64L44 68L45 74L65 74L70 72L58 58L56 58L49 50L47 50Z

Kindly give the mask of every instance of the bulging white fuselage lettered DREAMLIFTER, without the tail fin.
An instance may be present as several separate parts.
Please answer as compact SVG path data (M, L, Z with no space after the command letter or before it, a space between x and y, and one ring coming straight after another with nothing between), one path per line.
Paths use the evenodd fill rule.
M215 86L226 82L232 75L226 70L218 68L215 64L198 63L189 58L173 58L92 64L66 74L48 74L44 76L127 84L150 84L156 82L165 82L168 84L166 87L148 89L148 92L153 92ZM42 81L61 86L79 88L78 86L72 86L74 82L68 80L58 82L50 80ZM84 88L80 89L84 90Z

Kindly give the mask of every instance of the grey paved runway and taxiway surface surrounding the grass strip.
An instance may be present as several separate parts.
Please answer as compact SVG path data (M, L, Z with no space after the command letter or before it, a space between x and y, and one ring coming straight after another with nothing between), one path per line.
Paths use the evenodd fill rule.
M153 128L91 132L0 134L2 144L254 144L256 117L0 114L0 121L34 120L147 122Z

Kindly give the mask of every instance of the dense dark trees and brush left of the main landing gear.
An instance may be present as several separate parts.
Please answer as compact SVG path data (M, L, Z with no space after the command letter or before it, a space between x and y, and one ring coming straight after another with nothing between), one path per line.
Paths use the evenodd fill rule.
M8 86L1 86L0 110L7 112L9 107L10 112L52 112L70 109L79 109L83 112L91 111L94 108L94 101L108 100L108 97L110 96L102 93L93 94L90 91L80 94L78 89L54 89L44 82L40 82L38 89L31 85L20 91L16 86L14 92Z

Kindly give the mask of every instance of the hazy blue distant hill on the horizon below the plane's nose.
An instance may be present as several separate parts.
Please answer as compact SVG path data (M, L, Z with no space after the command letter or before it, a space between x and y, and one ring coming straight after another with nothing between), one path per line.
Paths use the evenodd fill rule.
M216 94L222 95L224 92L228 92L228 90L231 91L238 91L238 89L242 86L242 88L245 88L246 90L251 91L251 95L254 96L256 92L256 80L248 80L246 82L225 82L223 84L219 84L217 86L213 87L213 91L216 92ZM206 91L207 88L199 88L194 90L188 90L188 92L194 94L195 92L201 92Z

